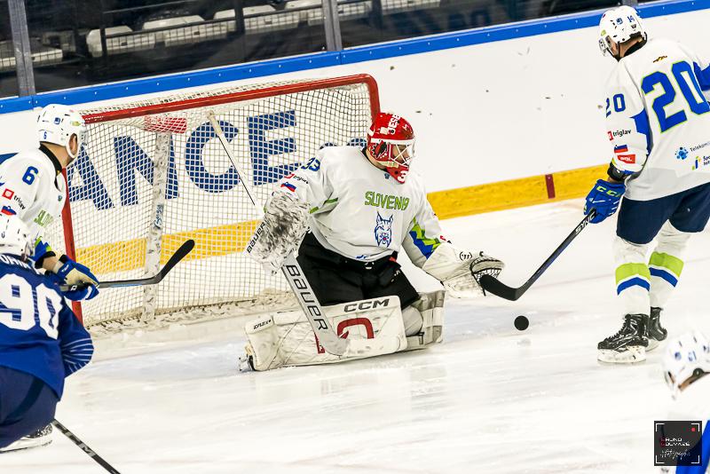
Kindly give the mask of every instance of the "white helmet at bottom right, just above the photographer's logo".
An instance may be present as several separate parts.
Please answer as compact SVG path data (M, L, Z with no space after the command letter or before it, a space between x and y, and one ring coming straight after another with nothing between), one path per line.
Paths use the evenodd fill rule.
M710 373L710 343L698 331L686 333L668 343L661 365L666 383L675 396L691 376Z

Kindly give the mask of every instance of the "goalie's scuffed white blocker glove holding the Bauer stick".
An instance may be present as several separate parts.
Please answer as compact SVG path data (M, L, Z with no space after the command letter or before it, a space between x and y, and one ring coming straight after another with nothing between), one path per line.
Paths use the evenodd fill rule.
M264 220L256 227L245 253L266 272L277 273L308 230L308 204L296 194L276 192L264 209Z

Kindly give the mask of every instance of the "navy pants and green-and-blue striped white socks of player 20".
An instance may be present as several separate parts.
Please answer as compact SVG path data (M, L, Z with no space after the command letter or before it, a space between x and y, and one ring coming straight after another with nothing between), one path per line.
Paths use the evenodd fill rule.
M688 239L705 229L708 218L710 183L651 201L621 201L614 259L617 294L627 313L649 314L651 307L667 303L681 276Z

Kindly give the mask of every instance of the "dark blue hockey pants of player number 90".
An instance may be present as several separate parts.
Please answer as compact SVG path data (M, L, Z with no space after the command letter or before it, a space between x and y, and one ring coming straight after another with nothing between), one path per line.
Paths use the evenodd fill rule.
M58 402L40 379L0 367L0 448L51 423Z

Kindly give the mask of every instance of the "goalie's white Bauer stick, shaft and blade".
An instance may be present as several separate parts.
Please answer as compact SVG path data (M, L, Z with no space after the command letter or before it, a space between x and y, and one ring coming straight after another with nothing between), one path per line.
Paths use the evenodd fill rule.
M212 129L215 130L219 142L225 149L225 154L229 158L229 161L232 162L234 169L237 170L241 186L244 187L244 191L248 195L249 200L254 204L258 217L263 218L264 203L258 200L254 190L248 184L247 174L242 170L241 165L234 157L232 146L230 146L227 141L225 132L222 130L222 126L219 122L217 122L214 113L210 112L208 117L209 122L212 124ZM252 237L251 241L248 243L249 248L252 247L261 236L260 231L263 228L262 225L264 225L263 222L256 228L254 237ZM289 255L286 260L284 260L281 266L281 272L288 281L288 286L291 287L291 290L294 292L298 305L301 306L301 309L304 311L308 322L311 323L311 327L316 336L318 336L319 343L323 346L323 349L334 355L343 355L348 349L348 341L335 334L333 325L327 319L326 313L323 311L323 308L318 302L318 298L311 288L311 284L308 282L308 279L305 278L304 271L293 254Z

